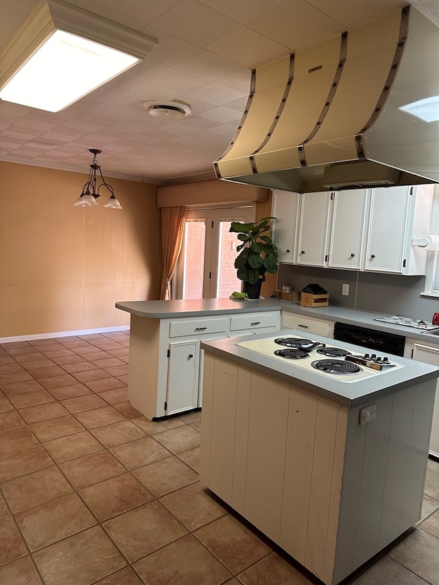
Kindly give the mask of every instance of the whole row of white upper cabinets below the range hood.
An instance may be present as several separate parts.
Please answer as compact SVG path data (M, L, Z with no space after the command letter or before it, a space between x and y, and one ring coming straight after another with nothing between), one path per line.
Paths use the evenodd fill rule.
M274 208L284 193L274 193ZM433 193L433 185L300 193L293 208L288 208L288 203L297 193L288 193L289 198L283 199L287 208L283 207L279 215L273 213L282 218L282 246L289 250L288 260L280 253L279 261L342 270L425 274L427 254L412 246L412 237L429 232ZM279 247L276 231L274 243Z

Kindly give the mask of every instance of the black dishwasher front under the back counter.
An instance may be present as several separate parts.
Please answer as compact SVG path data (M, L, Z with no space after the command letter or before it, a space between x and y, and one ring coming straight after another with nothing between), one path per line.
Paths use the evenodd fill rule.
M393 355L404 355L405 337L346 323L334 324L334 339Z

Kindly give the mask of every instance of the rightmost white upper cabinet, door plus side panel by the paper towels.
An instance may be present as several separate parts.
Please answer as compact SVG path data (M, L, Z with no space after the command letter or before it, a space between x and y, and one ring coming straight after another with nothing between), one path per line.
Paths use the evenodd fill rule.
M364 270L425 274L427 254L412 238L429 232L434 186L372 189Z

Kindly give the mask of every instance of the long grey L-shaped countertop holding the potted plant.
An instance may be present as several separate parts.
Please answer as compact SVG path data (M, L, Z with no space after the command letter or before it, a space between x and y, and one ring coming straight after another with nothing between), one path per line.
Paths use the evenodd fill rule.
M132 315L145 318L171 319L176 317L201 317L203 315L220 315L225 313L252 313L257 311L290 311L326 321L368 327L377 331L386 331L417 339L427 344L439 345L439 335L423 333L414 327L393 325L377 318L389 317L389 313L373 313L346 307L302 307L300 301L266 298L265 300L230 300L228 298L206 298L191 300L132 300L116 303L117 309L128 311ZM418 315L407 315L417 318ZM439 331L439 328L438 328Z

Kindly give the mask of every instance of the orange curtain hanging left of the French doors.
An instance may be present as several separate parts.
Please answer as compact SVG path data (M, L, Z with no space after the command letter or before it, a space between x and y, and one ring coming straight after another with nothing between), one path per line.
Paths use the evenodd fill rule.
M176 270L185 230L186 207L162 207L162 300L171 298L171 278Z

